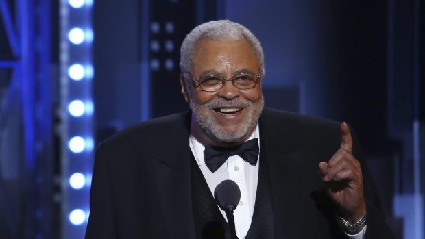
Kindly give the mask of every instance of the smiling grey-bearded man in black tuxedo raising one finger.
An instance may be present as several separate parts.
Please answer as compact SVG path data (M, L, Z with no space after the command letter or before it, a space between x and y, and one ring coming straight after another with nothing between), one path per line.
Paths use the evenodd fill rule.
M263 109L263 59L237 23L186 36L180 83L191 110L99 146L86 238L230 238L213 199L226 179L241 189L239 238L392 238L348 125Z

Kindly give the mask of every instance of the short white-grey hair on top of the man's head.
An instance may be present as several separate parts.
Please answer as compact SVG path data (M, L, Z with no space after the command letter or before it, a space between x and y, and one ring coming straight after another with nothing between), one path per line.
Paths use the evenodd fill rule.
M202 38L210 38L214 40L241 40L245 39L254 49L254 52L260 62L261 75L265 75L264 54L260 41L239 23L229 20L209 21L203 23L193 29L186 38L184 38L182 47L180 48L180 71L188 73L193 65L193 49Z

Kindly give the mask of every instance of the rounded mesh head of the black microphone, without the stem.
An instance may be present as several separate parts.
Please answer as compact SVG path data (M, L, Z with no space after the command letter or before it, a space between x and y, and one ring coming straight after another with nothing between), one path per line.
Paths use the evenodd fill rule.
M224 180L214 190L215 202L221 210L235 210L241 200L241 190L232 180Z

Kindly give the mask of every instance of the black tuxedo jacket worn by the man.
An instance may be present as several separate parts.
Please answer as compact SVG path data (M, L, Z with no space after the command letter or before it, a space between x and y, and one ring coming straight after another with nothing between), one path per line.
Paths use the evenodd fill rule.
M318 174L319 162L339 149L339 123L264 109L259 124L276 238L343 238ZM173 114L125 129L100 144L86 238L195 238L189 125L190 112ZM355 139L353 154L363 171L367 238L392 238Z

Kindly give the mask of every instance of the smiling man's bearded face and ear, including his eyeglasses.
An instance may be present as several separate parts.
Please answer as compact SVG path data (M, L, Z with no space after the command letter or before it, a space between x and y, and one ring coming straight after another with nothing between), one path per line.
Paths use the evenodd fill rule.
M262 67L256 53L244 39L205 38L193 47L196 64L183 68L181 77L182 93L193 112L191 133L204 145L241 144L263 110Z

